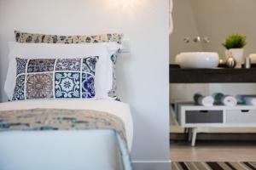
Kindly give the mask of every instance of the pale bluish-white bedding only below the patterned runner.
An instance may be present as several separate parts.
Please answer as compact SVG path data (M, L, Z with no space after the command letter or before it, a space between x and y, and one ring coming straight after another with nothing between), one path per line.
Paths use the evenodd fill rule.
M115 135L111 130L0 133L0 169L126 170Z

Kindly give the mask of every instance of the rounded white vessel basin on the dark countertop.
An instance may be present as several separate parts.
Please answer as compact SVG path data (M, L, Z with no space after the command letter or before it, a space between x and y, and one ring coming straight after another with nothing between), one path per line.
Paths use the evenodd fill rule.
M177 54L176 63L181 68L215 68L218 66L218 53L187 52Z

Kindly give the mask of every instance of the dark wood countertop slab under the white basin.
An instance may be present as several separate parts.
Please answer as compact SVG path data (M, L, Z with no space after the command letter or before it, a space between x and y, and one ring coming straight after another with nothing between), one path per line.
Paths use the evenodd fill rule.
M256 68L181 69L169 66L170 83L256 82Z

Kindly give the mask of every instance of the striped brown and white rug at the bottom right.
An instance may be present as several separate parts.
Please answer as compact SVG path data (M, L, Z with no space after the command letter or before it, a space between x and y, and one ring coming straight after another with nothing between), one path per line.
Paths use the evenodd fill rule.
M256 161L250 162L172 162L172 170L256 170Z

